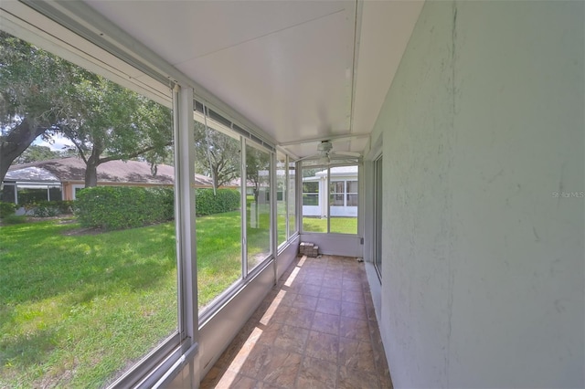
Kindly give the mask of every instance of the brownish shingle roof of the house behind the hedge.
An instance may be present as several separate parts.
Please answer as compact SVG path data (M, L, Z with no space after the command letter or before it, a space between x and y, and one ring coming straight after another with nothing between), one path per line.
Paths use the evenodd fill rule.
M60 158L10 166L5 181L83 182L85 163L78 157ZM166 164L151 172L150 164L140 161L110 161L98 166L98 183L173 184L175 168ZM211 178L195 174L195 184L212 186Z

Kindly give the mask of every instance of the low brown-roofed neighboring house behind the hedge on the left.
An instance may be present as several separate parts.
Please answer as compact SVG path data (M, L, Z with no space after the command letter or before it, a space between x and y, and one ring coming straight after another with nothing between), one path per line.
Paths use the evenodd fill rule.
M98 166L98 185L172 186L175 168L159 164L156 174L149 163L110 161ZM35 200L75 200L85 187L85 163L78 157L40 161L10 166L6 173L0 200L23 204L23 198ZM195 186L212 187L211 178L195 174Z

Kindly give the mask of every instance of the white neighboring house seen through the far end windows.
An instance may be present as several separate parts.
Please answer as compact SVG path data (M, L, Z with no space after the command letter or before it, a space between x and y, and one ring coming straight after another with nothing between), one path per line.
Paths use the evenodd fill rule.
M330 193L330 216L357 217L357 166L332 167L329 188L326 170L303 177L303 216L326 217Z

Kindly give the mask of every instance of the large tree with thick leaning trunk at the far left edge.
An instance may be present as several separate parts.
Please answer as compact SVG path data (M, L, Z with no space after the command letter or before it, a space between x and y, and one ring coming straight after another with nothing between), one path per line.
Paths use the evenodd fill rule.
M80 70L0 31L0 182L38 136L68 121Z

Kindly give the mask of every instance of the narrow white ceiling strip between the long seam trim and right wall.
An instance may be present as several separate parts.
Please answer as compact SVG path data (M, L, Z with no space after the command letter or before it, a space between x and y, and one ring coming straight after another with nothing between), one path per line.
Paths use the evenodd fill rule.
M371 132L424 1L366 1L362 7L352 129Z

